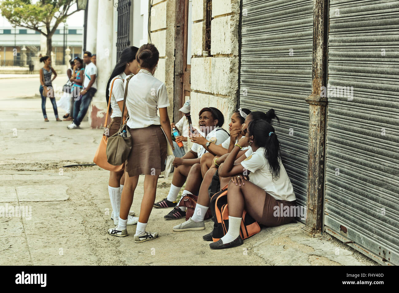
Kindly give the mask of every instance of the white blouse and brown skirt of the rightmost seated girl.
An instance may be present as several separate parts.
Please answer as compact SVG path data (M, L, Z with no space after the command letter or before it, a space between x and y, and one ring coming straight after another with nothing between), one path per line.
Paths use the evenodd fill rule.
M241 165L250 171L249 181L257 185L266 192L265 203L263 205L263 215L260 218L255 218L259 224L268 227L280 226L293 222L293 216L275 216L277 210L283 210L285 206L296 206L296 197L294 189L288 174L279 159L280 177L273 179L270 172L269 162L265 157L265 148L259 147L255 152L248 149L245 153L247 157L241 162ZM250 213L250 211L247 210ZM251 214L251 213L250 213ZM252 216L252 215L251 215Z

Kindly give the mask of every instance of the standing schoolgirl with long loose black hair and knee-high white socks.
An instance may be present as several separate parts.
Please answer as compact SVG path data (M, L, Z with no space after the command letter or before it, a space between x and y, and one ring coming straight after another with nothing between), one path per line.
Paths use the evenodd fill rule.
M127 75L137 73L138 71L138 63L136 60L137 51L138 47L134 46L124 49L120 53L119 61L117 65L115 65L111 77L108 80L105 97L107 104L108 102L110 103L109 113L107 113L107 115L111 115L112 121L106 128L107 137L114 135L119 130L124 97L123 81L126 79ZM126 119L126 114L124 115L124 119ZM109 171L108 193L112 206L111 219L114 220L115 226L118 225L119 221L120 195L122 194L124 186L123 175L124 168L120 172ZM134 214L133 211L129 211L126 225L137 223L138 217L134 217Z

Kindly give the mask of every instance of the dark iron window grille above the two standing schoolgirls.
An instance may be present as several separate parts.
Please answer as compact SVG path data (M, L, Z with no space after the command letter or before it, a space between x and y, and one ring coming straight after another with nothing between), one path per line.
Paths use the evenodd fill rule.
M130 0L119 0L118 2L118 33L117 33L117 60L120 53L130 46L129 27L130 27Z

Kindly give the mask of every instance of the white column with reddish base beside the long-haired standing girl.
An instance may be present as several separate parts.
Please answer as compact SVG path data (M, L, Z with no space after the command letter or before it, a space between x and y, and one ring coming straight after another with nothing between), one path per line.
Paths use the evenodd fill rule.
M112 72L112 50L116 49L112 43L113 37L113 1L99 0L97 23L97 92L93 97L89 112L89 124L91 128L103 126L107 112L105 100L105 88ZM105 21L107 20L107 21Z

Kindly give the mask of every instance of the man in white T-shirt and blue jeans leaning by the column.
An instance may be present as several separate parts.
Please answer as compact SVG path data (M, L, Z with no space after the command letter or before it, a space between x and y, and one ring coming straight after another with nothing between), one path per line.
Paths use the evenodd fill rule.
M86 64L83 90L80 91L80 97L73 103L73 122L67 126L68 129L79 128L89 109L91 99L97 91L97 67L91 62L89 51L83 54L83 62Z

